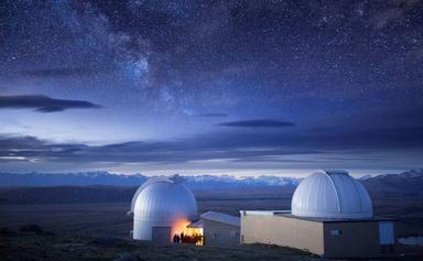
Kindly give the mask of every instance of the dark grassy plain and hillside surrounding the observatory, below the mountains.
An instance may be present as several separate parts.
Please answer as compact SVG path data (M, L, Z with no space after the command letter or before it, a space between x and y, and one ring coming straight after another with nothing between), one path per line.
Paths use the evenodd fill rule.
M240 209L289 209L291 191L282 188L195 192L199 211L238 215ZM423 235L423 197L371 193L377 215L399 219L399 235ZM130 200L121 203L2 204L1 260L308 260L302 252L269 246L198 248L133 242ZM19 232L35 224L43 232ZM415 251L413 249L412 251ZM305 255L304 255L305 254ZM408 257L409 258L409 257Z

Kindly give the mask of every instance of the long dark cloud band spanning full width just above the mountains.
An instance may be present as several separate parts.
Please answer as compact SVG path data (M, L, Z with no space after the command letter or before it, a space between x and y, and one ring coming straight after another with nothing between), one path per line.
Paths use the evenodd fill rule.
M330 133L215 132L169 141L133 141L108 145L52 143L34 137L0 137L2 161L69 163L186 163L231 162L371 162L383 161L380 152L406 148L420 159L423 128L369 129ZM325 154L327 154L325 156ZM330 155L329 155L330 154ZM321 160L316 160L316 156ZM286 159L290 157L290 159Z

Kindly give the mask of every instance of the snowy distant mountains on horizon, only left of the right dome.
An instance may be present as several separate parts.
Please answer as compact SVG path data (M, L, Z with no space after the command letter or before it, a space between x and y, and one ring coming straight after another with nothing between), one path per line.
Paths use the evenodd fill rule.
M0 186L139 186L149 178L141 174L121 175L108 172L84 172L84 173L26 173L11 174L0 173ZM239 186L296 186L300 178L281 176L258 176L237 178L229 175L198 175L184 176L185 184L193 189L200 188L229 188Z

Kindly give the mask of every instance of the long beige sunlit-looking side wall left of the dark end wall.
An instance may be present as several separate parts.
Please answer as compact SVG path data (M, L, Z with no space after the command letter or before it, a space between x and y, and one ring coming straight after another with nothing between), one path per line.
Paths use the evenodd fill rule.
M269 243L324 254L323 224L283 216L241 215L241 243Z

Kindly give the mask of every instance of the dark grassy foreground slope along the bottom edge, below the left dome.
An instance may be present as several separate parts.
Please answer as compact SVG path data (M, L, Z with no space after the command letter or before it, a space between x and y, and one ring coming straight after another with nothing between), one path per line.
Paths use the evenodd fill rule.
M192 244L151 244L129 239L96 236L0 233L1 260L314 260L312 254L273 246L235 248Z

